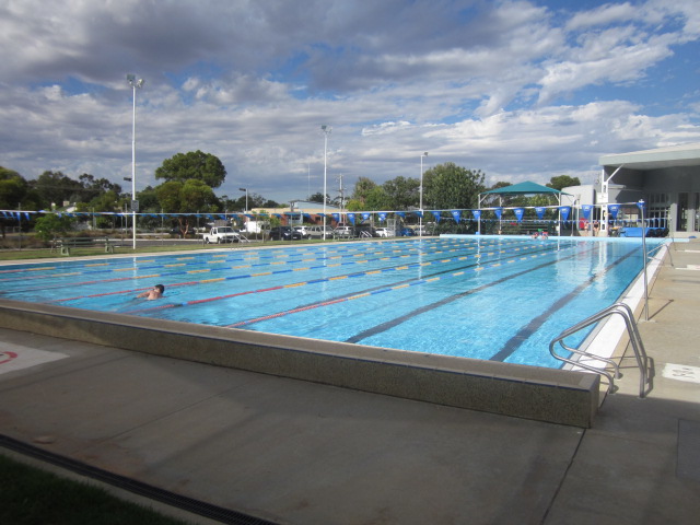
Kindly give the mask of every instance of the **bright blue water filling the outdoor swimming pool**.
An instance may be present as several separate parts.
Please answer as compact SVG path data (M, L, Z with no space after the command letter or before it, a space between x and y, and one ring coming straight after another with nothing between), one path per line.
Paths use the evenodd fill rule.
M429 237L2 267L0 298L559 368L549 341L642 264L632 241Z

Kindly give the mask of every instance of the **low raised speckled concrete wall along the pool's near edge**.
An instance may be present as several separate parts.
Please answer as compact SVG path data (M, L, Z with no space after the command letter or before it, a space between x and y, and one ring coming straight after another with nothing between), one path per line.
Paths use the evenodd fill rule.
M597 374L0 300L0 327L417 401L590 428Z

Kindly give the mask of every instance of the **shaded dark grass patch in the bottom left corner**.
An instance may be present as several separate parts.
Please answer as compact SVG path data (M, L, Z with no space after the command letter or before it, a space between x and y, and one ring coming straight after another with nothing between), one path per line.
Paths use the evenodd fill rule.
M0 454L0 523L12 525L185 525L107 491Z

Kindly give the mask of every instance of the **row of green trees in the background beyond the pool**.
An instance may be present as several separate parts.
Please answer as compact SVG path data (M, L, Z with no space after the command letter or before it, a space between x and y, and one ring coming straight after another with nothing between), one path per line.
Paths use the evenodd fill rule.
M137 195L140 213L221 213L243 211L245 196L229 199L218 197L214 189L225 180L226 170L221 161L211 153L191 151L177 153L166 159L155 171L155 178L163 180L155 187L147 187ZM330 199L316 194L312 201L339 203L348 211L468 209L478 207L478 196L488 189L508 186L510 183L497 183L491 188L485 185L485 174L479 170L467 170L452 162L427 170L421 179L396 177L383 184L376 184L369 177L360 177L347 202ZM575 186L575 177L561 175L552 177L547 185L556 189ZM124 192L119 184L105 178L95 178L82 174L78 180L61 172L44 172L34 180L26 180L19 173L0 166L0 209L42 210L62 208L66 203L75 205L77 211L115 212L130 211L131 195ZM539 205L540 202L518 201L515 205ZM248 208L278 208L272 200L252 194L248 195ZM3 233L4 233L4 222ZM101 218L97 226L109 226L110 219ZM187 217L178 219L179 229L185 234L191 223ZM144 224L148 226L148 224Z

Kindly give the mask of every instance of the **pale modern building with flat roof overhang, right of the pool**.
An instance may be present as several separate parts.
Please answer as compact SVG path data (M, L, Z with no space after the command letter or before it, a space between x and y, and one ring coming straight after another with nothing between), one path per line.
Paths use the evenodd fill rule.
M606 205L645 202L645 217L663 223L670 235L689 237L700 232L700 142L603 155L596 186L563 188L578 205L598 208L600 234L607 224Z

